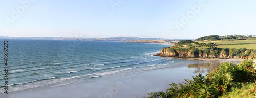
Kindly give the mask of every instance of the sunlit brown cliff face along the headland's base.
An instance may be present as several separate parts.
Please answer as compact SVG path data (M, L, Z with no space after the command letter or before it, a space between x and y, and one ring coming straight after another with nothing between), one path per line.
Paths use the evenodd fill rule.
M218 55L212 55L212 50L210 50L210 53L195 53L193 50L179 50L179 49L170 49L170 48L162 48L162 50L156 54L156 56L168 56L168 57L200 57L200 58L248 58L252 59L253 57L256 57L255 53L251 53L247 57L242 56L230 56L229 53L221 52Z

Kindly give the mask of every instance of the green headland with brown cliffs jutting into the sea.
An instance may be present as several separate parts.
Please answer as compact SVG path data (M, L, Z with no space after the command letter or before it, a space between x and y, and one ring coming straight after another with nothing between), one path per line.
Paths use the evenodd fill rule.
M198 39L218 39L218 35ZM241 37L246 38L246 37ZM197 40L198 40L197 39ZM256 39L246 40L183 40L172 47L163 48L157 56L200 58L249 58L256 57Z

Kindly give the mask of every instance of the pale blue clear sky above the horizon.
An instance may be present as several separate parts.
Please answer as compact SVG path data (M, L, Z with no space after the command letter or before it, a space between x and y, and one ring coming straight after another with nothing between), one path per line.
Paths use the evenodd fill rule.
M27 3L20 3L23 1ZM215 34L256 34L255 0L111 2L0 0L0 36L195 39ZM182 14L190 16L184 18Z

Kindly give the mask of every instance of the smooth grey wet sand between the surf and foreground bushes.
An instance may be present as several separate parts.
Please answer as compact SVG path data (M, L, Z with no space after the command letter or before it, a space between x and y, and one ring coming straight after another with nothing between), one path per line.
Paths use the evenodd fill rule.
M105 75L80 83L54 84L22 91L10 92L16 97L147 97L147 93L165 91L169 83L184 82L198 73L205 75L220 63L190 64L156 70L125 72ZM76 80L71 80L76 81ZM62 83L63 84L63 83ZM1 94L0 97L7 97Z

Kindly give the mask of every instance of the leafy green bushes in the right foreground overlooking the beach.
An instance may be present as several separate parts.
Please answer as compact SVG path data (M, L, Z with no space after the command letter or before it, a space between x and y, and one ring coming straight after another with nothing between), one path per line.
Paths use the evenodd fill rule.
M241 90L239 96L255 96L256 70L252 67L253 60L244 60L240 64L222 63L211 73L198 74L193 80L169 84L166 92L148 93L150 97L224 97L233 96ZM246 85L245 85L246 84ZM249 88L253 87L253 88ZM248 94L249 93L249 94Z

